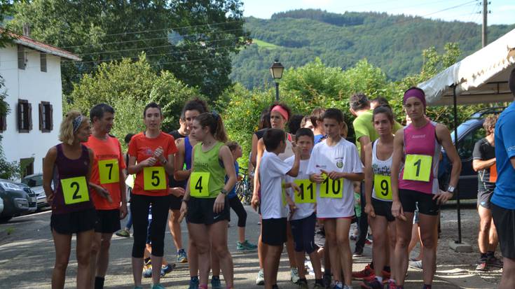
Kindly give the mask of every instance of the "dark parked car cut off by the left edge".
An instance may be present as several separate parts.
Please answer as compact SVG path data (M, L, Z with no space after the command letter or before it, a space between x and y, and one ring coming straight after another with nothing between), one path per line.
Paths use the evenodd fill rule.
M14 183L0 178L0 197L4 202L4 210L0 213L0 222L6 222L14 216L31 213L37 209L36 194L22 183Z

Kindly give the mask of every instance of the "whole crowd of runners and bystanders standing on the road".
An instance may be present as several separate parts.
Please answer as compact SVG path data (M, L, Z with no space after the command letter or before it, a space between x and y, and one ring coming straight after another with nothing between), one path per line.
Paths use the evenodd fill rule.
M510 88L515 96L515 70ZM179 129L170 133L161 130L160 106L148 104L142 111L146 129L125 137L127 153L109 134L114 108L98 104L89 117L69 111L60 127L62 143L48 150L43 164L55 243L52 288L64 288L72 234L76 287L103 288L111 237L129 237L131 229L135 289L142 288L143 277L152 279L153 289L164 288L160 278L174 269L163 257L167 226L177 262L188 263L190 289L206 289L208 283L222 288L220 274L225 287L234 288L231 209L238 216L236 250L258 251L256 284L266 289L277 288L284 244L291 282L300 289L348 289L352 279L362 280L362 288L404 288L409 253L418 240L420 255L412 261L421 261L423 288L431 288L439 206L453 197L461 162L448 128L427 117L423 90L406 90L402 103L404 127L386 99L352 95L355 143L345 139L348 126L338 108L316 108L303 116L276 102L263 111L259 130L249 136L251 203L261 218L257 244L245 237L247 212L234 190L242 148L228 140L221 115L210 112L205 101L188 101ZM499 288L515 288L515 137L509 132L514 111L511 104L499 120L488 118L487 136L474 148L481 217L477 269L504 265ZM442 151L452 168L445 185L438 178ZM184 218L187 246L181 236ZM353 222L359 230L351 232L356 239L351 253ZM362 255L368 234L373 234L372 262L352 272L352 257ZM497 239L504 263L494 255ZM306 255L315 275L310 282Z

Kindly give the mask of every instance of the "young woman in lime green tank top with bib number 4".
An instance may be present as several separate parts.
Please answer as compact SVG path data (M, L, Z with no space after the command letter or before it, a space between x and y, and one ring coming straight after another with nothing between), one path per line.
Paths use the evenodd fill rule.
M191 155L191 174L182 199L188 231L198 251L199 288L207 289L211 253L217 255L227 288L233 288L233 258L227 248L231 218L227 194L236 183L233 156L224 143L227 135L217 113L202 113L193 120L190 136L198 141ZM225 181L228 176L227 182ZM211 249L213 252L211 252Z

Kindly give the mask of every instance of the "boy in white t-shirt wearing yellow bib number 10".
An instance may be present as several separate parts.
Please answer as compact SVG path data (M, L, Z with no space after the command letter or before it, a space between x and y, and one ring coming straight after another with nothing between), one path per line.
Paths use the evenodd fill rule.
M327 140L313 148L308 174L310 181L318 184L317 218L324 222L334 288L349 289L352 288L349 244L350 222L354 216L352 182L363 180L363 166L356 146L340 135L343 113L337 108L329 108L323 120Z

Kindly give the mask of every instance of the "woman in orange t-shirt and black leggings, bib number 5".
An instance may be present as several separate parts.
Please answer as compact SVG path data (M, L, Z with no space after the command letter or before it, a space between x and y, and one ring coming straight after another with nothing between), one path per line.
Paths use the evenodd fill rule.
M165 243L165 227L170 209L168 177L174 172L174 153L177 153L173 136L161 132L163 114L158 104L147 104L143 113L146 130L129 143L129 174L136 174L130 211L134 225L132 244L132 276L135 288L142 288L143 255L149 226L149 207L152 205L150 239L152 264L161 264ZM152 267L153 289L160 289L160 266Z

